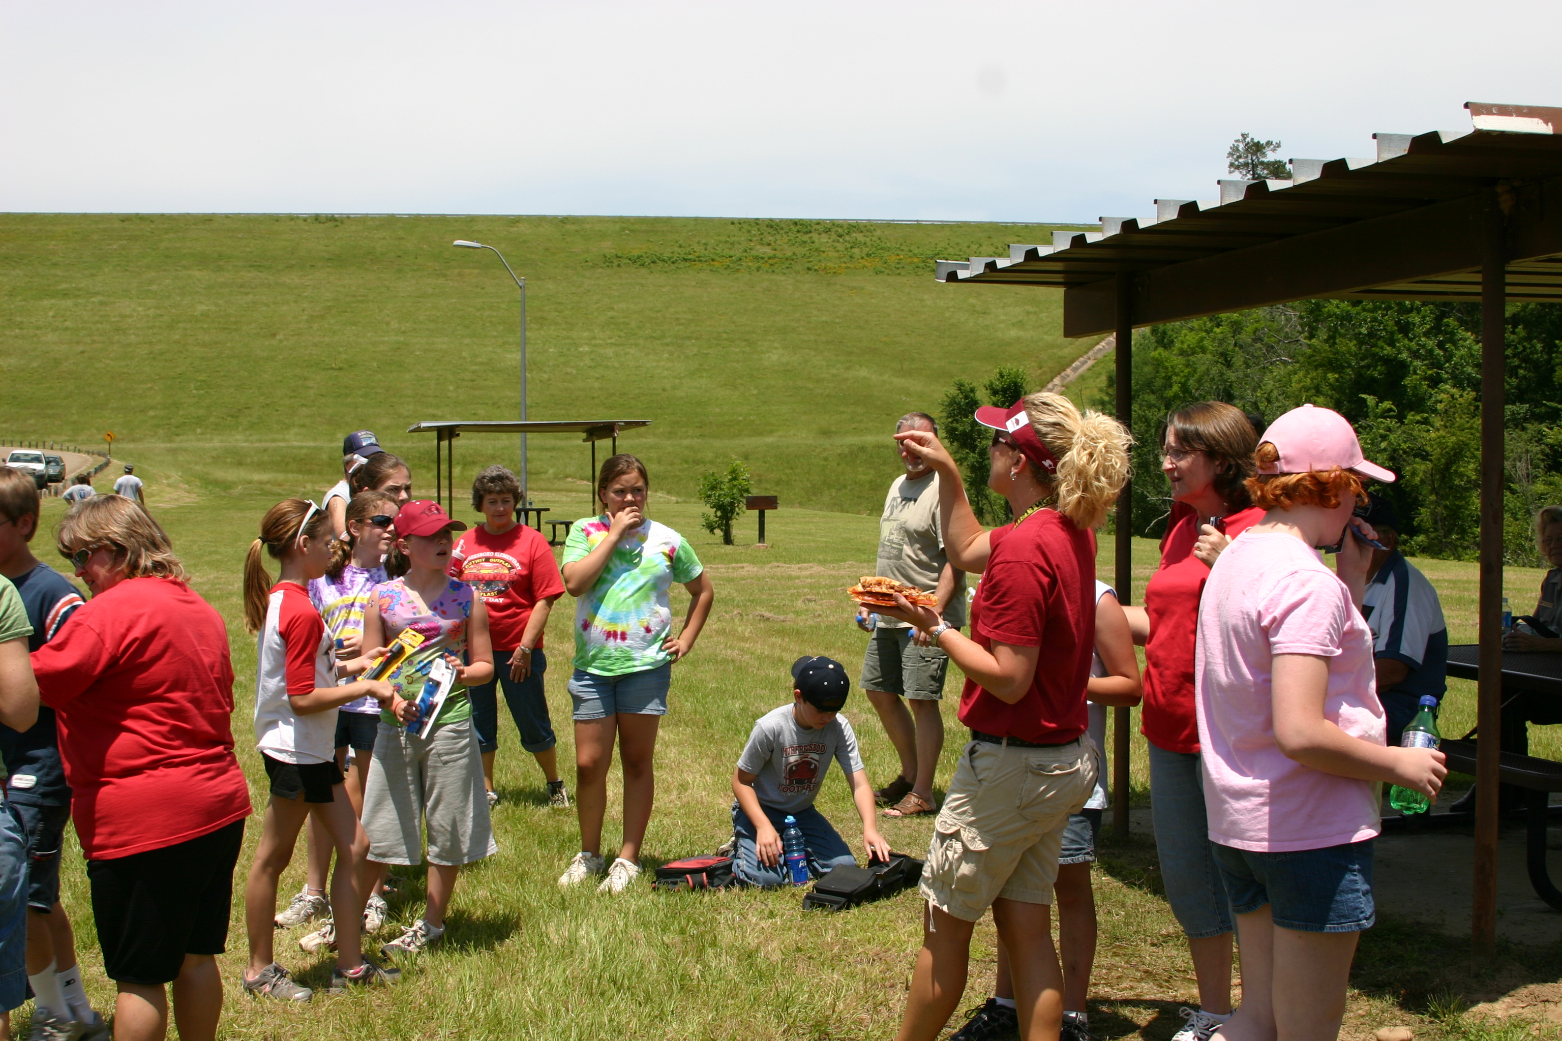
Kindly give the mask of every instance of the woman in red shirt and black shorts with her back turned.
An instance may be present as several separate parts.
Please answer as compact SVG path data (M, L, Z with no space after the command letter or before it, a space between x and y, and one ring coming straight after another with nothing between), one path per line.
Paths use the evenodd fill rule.
M233 868L250 788L233 755L233 663L222 616L184 582L134 501L100 495L56 534L92 599L33 652L55 709L70 815L87 858L114 1036L211 1041L222 1011Z

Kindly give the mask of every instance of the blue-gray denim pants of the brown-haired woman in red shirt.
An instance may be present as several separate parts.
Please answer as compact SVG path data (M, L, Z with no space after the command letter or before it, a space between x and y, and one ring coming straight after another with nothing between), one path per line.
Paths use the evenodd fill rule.
M1150 816L1167 904L1178 926L1189 940L1229 933L1231 904L1209 841L1198 754L1150 746Z

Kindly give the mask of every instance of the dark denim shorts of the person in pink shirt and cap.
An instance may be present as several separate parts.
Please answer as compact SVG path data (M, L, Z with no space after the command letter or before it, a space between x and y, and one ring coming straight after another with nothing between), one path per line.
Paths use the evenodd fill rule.
M1215 863L1231 894L1231 910L1250 915L1265 904L1281 929L1304 933L1357 933L1371 929L1371 843L1259 854L1215 844Z

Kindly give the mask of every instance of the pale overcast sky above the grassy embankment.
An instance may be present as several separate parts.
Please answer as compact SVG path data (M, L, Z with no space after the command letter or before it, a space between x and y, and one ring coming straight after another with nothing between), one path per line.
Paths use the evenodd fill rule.
M0 209L1095 220L1562 105L1562 3L0 0Z

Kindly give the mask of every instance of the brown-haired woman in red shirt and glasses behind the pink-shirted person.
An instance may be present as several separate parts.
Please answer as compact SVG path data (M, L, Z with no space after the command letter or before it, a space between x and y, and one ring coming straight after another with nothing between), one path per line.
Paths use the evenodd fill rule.
M1200 1008L1173 1041L1207 1041L1231 1014L1231 910L1204 821L1204 787L1193 716L1193 631L1209 568L1240 532L1259 523L1246 479L1259 432L1237 407L1201 401L1167 417L1161 471L1172 485L1172 518L1145 606L1126 607L1145 648L1140 729L1150 743L1150 810L1167 902L1187 935Z

